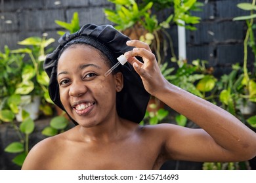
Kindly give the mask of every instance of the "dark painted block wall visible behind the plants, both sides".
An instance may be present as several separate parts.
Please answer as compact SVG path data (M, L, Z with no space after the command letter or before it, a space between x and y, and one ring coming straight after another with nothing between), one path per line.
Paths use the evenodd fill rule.
M232 63L242 63L245 22L234 22L232 18L246 12L236 7L238 3L250 0L199 0L205 3L202 12L195 12L202 21L197 31L186 31L187 58L205 59L220 75L230 71ZM17 48L16 42L26 37L48 33L56 40L60 29L54 20L70 22L75 11L79 12L81 25L110 24L102 8L112 8L107 0L1 0L0 8L0 50L5 44ZM177 52L177 27L170 31ZM52 44L53 46L56 45ZM250 64L250 63L249 63Z

